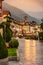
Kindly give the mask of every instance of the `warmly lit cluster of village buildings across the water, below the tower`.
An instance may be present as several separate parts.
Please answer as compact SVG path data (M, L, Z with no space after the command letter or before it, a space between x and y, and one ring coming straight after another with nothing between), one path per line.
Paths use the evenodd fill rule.
M40 32L40 25L36 22L24 22L24 21L13 21L11 23L11 28L13 31L17 31L19 34L27 35L38 35Z

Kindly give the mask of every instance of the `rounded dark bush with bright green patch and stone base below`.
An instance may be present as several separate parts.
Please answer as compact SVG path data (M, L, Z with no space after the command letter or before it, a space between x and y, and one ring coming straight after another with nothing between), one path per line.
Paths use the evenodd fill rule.
M10 48L8 48L8 56L9 56L9 60L18 60L18 46L19 46L19 42L16 39L12 39L9 42L9 46Z

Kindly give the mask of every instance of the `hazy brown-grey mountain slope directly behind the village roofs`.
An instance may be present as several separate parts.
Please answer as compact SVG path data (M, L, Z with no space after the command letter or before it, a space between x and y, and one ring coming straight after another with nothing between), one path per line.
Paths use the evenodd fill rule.
M37 23L40 23L40 20L37 20L36 18L26 14L21 9L18 9L18 8L14 7L14 6L11 6L11 5L9 5L9 4L5 3L5 2L3 3L3 10L9 10L14 19L23 20L24 16L28 16L29 21L36 21Z

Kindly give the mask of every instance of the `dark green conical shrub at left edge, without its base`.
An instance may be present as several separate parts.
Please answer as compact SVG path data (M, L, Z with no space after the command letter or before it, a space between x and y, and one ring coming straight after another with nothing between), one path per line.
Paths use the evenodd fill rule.
M8 56L8 50L6 48L3 37L0 34L0 59L6 58Z

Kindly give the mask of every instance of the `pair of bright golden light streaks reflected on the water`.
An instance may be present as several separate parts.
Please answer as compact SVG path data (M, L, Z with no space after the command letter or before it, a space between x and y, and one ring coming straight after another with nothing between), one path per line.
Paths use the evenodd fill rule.
M25 59L31 62L36 60L36 41L25 40Z

